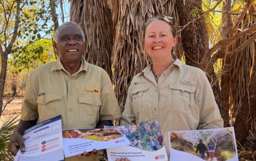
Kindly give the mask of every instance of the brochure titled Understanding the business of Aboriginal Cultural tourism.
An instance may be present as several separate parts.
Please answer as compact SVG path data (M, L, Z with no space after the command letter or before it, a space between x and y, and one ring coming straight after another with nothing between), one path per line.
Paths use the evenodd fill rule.
M113 128L113 126L104 126ZM116 158L128 157L129 160L139 161L167 161L165 145L158 119L152 119L140 124L116 126L131 142L130 145L107 149L109 161Z

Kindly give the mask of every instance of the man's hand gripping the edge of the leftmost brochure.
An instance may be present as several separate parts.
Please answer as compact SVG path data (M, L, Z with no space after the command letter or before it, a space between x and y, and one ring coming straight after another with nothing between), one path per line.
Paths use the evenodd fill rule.
M23 136L18 132L15 131L12 134L12 137L10 139L9 145L8 145L8 151L11 152L13 156L16 156L18 150L21 150L21 152L25 152L25 145L24 145L24 139Z

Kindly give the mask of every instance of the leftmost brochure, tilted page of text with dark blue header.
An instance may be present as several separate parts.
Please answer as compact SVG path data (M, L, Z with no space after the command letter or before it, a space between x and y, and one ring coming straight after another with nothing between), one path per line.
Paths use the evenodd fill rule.
M20 150L14 161L63 161L61 115L24 131L26 152Z

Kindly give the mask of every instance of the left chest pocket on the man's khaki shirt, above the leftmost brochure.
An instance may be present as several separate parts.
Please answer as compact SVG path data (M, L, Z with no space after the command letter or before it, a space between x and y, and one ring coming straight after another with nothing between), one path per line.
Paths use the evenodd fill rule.
M47 94L37 97L39 121L61 115L61 95Z

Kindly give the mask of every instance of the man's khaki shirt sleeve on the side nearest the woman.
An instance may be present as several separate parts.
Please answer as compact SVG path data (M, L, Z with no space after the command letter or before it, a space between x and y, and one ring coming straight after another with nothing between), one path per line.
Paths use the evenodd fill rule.
M108 73L103 70L101 77L101 107L99 120L114 120L121 118L121 111L118 106L114 89Z

